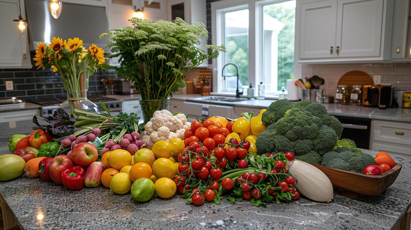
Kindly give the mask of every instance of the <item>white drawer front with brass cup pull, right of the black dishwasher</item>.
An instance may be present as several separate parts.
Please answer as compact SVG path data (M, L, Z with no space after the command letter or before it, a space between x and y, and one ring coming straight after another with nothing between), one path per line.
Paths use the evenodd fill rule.
M370 148L375 151L411 155L411 124L372 120Z

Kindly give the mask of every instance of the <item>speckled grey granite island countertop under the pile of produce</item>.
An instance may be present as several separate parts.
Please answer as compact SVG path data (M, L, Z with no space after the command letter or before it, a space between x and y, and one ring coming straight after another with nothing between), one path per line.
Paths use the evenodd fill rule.
M0 152L14 133L30 133L30 121L10 128L0 123ZM363 150L369 154L375 151ZM248 201L231 205L188 205L178 196L158 197L145 203L128 193L117 195L103 186L70 191L40 177L0 182L0 193L24 229L392 229L411 204L411 157L392 154L402 170L387 191L379 196L351 199L334 195L330 203L299 200L268 207ZM38 221L38 214L44 219ZM217 226L217 223L224 226Z

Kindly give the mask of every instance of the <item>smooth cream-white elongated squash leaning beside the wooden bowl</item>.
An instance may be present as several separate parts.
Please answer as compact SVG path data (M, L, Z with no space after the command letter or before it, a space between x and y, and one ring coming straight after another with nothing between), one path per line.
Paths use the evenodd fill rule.
M315 201L331 201L332 184L321 170L304 161L294 160L288 172L296 178L295 186L302 195Z

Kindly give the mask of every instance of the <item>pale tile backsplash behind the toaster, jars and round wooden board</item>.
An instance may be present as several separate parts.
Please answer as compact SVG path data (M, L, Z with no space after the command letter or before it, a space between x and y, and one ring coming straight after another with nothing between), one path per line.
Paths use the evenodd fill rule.
M327 96L334 96L339 78L349 71L364 71L369 76L381 75L381 84L393 84L403 90L411 90L411 64L321 64L302 65L301 77L305 82L306 77L314 75L324 78Z

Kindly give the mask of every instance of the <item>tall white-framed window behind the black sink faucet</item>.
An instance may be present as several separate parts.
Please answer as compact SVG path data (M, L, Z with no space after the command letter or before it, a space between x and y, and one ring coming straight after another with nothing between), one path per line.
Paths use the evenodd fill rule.
M260 82L266 95L286 87L294 72L296 0L221 0L211 3L211 11L212 44L226 46L226 53L213 60L214 91L236 90L236 67L222 72L227 63L238 66L240 91Z

